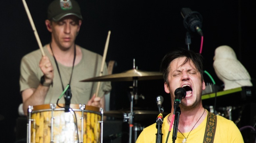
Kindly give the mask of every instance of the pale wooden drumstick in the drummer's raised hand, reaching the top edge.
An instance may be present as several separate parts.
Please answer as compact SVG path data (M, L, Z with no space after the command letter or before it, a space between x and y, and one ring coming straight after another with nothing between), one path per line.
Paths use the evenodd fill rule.
M35 24L34 24L34 22L33 22L33 20L32 20L32 17L31 17L30 12L29 12L28 5L27 5L27 3L26 3L25 0L22 0L22 2L23 2L23 5L24 5L24 7L25 7L25 9L26 9L27 15L28 15L28 17L29 17L29 21L30 21L30 24L31 24L32 29L33 29L33 31L34 31L35 38L36 38L36 40L37 40L37 43L38 43L38 45L39 45L39 48L40 48L40 50L41 50L41 52L42 52L42 55L45 56L44 50L43 50L43 46L42 46L42 43L41 43L41 41L40 41L40 39L39 39L38 33L37 33L36 29L35 29Z

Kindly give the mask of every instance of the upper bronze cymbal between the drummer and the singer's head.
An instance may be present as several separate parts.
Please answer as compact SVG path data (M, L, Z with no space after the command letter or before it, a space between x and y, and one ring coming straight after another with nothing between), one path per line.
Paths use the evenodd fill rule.
M162 79L162 73L155 71L141 71L141 70L128 70L121 73L103 75L98 77L93 77L80 82L92 82L92 81L133 81L136 80L154 80Z

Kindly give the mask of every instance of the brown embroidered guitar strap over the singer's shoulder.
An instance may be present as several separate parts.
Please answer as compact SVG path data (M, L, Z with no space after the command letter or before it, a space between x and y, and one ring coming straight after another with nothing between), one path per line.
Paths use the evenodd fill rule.
M217 116L211 112L208 112L203 143L213 143L214 135L216 131L216 125L217 125Z

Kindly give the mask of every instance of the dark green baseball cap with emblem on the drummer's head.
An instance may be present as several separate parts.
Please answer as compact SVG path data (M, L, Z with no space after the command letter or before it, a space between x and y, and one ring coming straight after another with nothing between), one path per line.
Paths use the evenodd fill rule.
M80 7L75 0L54 0L48 7L48 20L59 21L68 15L83 19Z

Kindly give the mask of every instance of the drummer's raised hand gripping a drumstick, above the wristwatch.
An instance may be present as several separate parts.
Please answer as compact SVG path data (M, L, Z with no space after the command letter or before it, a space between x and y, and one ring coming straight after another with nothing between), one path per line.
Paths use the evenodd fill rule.
M39 67L43 71L46 83L52 83L53 81L53 65L48 56L42 56Z

